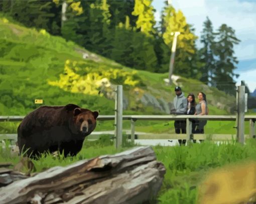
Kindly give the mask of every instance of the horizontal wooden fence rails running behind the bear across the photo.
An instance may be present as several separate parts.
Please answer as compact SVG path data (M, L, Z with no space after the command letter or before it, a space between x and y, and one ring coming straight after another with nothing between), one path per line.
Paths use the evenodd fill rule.
M0 116L0 122L9 121L9 122L19 122L22 121L25 116ZM137 120L162 120L162 121L173 121L173 120L186 120L186 134L155 134L155 133L136 133L135 126ZM189 119L200 119L200 120L209 120L209 121L236 121L236 116L233 115L123 115L122 120L130 120L131 121L131 131L126 132L126 134L131 134L131 140L135 141L135 135L138 136L139 139L154 139L154 137L158 137L161 139L212 139L212 140L230 140L232 138L236 138L235 134L192 134L191 127L192 122ZM114 115L99 115L97 118L98 121L107 121L107 120L115 120ZM249 134L244 135L245 138L252 138L255 136L255 120L256 115L245 115L244 121L249 121ZM235 128L235 127L234 127ZM91 135L88 136L88 139L97 139L99 135L106 134L104 131L101 132L92 132ZM112 134L113 133L108 133ZM17 140L17 134L0 134L0 140L3 139L13 139Z

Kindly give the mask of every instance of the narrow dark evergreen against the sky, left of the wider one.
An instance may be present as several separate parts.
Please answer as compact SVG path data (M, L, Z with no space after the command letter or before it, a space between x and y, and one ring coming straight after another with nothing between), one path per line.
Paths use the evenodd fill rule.
M200 42L203 44L201 61L205 63L201 70L202 77L200 80L207 85L214 85L212 84L213 82L211 83L216 66L216 60L213 54L215 50L214 38L212 23L207 17L206 21L203 23L203 31L200 39Z

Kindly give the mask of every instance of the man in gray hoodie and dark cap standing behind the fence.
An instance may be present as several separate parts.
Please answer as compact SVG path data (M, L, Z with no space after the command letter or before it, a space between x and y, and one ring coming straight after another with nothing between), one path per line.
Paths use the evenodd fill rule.
M185 115L187 111L187 98L182 93L182 90L179 86L175 87L176 97L173 100L174 109L172 109L171 114L174 115ZM186 121L185 120L175 120L174 122L175 133L180 134L180 129L182 134L186 133ZM183 141L184 142L184 141ZM186 140L185 140L186 142ZM181 139L179 139L181 144Z

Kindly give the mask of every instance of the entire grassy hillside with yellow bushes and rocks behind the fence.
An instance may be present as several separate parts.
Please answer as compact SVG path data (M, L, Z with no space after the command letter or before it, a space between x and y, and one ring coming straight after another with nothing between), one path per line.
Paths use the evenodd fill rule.
M168 114L179 85L185 95L203 91L210 114L229 114L235 99L202 83L137 71L90 53L73 42L0 19L0 115L25 115L46 105L75 103L114 114L113 85L124 88L124 114ZM100 94L99 94L100 91Z

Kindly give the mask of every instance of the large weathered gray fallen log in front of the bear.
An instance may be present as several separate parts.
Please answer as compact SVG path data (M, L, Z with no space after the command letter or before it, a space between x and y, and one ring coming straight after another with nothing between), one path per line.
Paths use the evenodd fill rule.
M165 167L152 147L53 167L0 188L0 203L142 203L156 196Z

